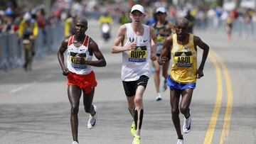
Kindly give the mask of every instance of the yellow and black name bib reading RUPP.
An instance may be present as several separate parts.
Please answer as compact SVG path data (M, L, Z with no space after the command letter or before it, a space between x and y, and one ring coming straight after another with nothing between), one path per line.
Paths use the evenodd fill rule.
M146 45L129 51L129 62L146 62Z

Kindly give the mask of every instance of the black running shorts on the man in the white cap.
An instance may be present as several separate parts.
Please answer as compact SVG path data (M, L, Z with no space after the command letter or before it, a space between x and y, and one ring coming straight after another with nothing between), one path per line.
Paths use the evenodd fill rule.
M142 75L136 81L130 81L130 82L122 81L125 94L127 96L134 96L136 94L136 89L139 85L145 87L146 89L146 84L148 81L149 81L149 77L146 77L146 75Z

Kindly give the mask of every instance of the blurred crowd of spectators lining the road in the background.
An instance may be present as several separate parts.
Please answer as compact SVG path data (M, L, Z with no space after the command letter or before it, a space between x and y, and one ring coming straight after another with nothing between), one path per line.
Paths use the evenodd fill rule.
M45 6L37 5L30 9L13 10L11 3L7 3L5 9L0 9L0 33L16 33L18 24L21 22L24 13L31 13L35 21L38 22L39 28L45 28L56 22L63 22L71 14L71 16L85 15L89 16L92 13L110 13L114 20L123 23L128 21L129 9L134 4L134 1L99 1L99 0L83 0L83 1L68 1L57 0L52 4L50 12L46 14ZM186 16L189 13L195 19L196 26L206 28L207 21L213 20L213 26L218 27L220 21L243 21L245 23L256 23L255 9L236 8L230 11L222 9L218 6L198 6L193 4L185 4L184 6L174 6L166 2L147 2L143 3L146 8L146 20L148 21L154 15L154 11L159 6L164 6L168 9L168 18L175 21L177 17ZM89 13L89 14L88 14ZM87 15L86 15L87 14ZM96 16L96 15L95 15ZM99 15L98 15L99 16ZM126 16L126 17L125 17ZM123 19L119 20L122 17Z

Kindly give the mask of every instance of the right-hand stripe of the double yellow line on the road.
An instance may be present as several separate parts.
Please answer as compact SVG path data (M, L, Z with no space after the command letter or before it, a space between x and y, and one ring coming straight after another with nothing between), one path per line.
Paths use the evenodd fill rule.
M227 93L228 93L223 130L220 136L220 144L223 144L225 141L225 138L228 137L228 133L230 130L230 118L231 118L231 113L233 109L233 89L232 89L232 82L230 80L230 75L227 67L225 66L225 63L223 62L223 60L221 60L220 56L216 52L214 52L214 55L218 58L218 60L220 60L221 67L223 67L225 82L227 86Z

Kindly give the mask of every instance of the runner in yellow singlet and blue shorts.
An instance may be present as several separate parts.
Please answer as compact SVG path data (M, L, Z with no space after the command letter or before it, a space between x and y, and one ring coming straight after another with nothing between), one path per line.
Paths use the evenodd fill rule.
M167 79L170 87L171 118L174 122L178 135L177 144L183 144L181 134L179 111L184 115L183 133L191 130L191 104L193 89L196 88L196 79L203 77L203 67L208 56L209 46L201 38L191 33L187 33L188 20L179 18L174 27L176 34L170 36L164 42L164 48L158 60L160 65L166 61L166 55L171 50L174 57L171 67L171 76ZM203 50L201 65L197 67L197 46ZM181 103L179 99L181 96ZM179 108L179 109L178 109Z

